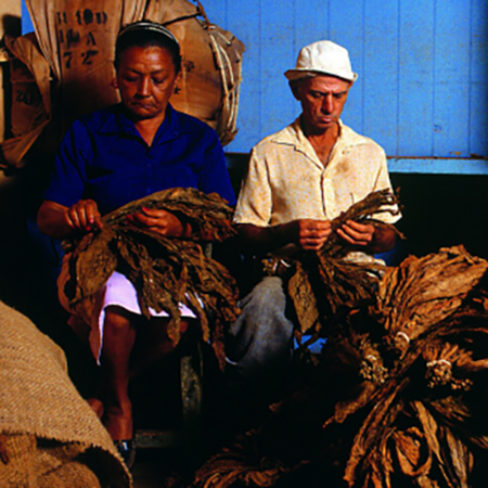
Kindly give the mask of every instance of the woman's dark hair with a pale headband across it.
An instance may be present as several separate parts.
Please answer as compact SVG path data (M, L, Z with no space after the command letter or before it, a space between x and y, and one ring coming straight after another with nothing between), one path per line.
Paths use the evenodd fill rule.
M120 29L115 43L115 68L120 63L120 56L129 48L158 47L168 51L175 65L175 73L181 69L180 44L175 35L162 24L149 21L134 22Z

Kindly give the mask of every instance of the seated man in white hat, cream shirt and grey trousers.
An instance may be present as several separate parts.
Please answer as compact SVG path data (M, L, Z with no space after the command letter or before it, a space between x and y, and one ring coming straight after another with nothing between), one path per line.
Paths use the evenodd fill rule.
M357 78L347 50L314 42L284 75L303 112L253 149L234 217L245 248L261 257L320 249L333 218L369 193L390 188L383 149L339 118ZM399 216L378 218L393 223ZM360 249L354 253L359 260L395 245L391 229L348 221L336 232ZM281 278L266 277L241 305L228 344L231 374L274 384L270 375L283 374L293 351Z

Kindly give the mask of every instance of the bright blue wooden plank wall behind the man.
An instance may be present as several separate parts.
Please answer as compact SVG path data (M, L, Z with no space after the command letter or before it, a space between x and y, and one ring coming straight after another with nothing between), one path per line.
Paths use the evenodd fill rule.
M488 0L203 0L246 44L239 133L247 153L299 106L283 72L331 39L359 73L343 119L400 172L488 174ZM24 22L28 29L28 22Z

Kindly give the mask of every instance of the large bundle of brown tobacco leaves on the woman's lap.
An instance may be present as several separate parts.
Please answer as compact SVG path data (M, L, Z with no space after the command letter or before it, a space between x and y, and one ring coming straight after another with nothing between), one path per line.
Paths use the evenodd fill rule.
M177 188L131 202L104 216L101 230L63 243L72 251L65 285L72 310L89 323L95 293L117 270L134 285L145 317L149 308L169 313L168 335L175 344L180 338L178 304L190 307L200 319L203 339L211 341L223 364L222 328L239 313L233 278L196 240L167 239L131 223L127 216L142 207L168 210L191 224L192 235L209 241L234 234L232 209L217 194Z

